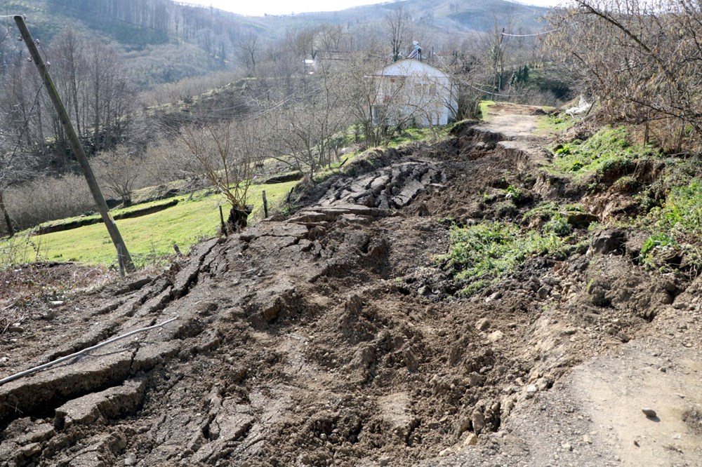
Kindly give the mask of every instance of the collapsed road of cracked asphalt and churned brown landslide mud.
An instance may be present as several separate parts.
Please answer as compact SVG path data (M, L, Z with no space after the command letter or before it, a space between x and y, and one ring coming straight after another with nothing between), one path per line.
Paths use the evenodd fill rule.
M178 318L0 386L1 465L411 465L500 432L570 367L632 339L658 303L627 308L650 292L635 271L616 289L602 278L611 306L599 306L585 284L604 276L585 255L537 258L448 299L456 285L432 262L449 245L442 219L491 216L480 200L505 180L560 196L538 186L540 142L511 137L465 124L436 147L388 150L289 219L201 243L159 276L76 296L3 337L5 376ZM614 282L620 258L600 268ZM670 303L675 287L654 292Z

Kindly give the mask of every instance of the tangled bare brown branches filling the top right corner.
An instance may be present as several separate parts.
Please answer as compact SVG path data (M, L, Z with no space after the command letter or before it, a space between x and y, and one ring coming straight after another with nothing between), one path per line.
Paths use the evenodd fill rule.
M550 22L550 50L600 98L605 119L675 122L678 148L689 130L702 132L697 1L576 0Z

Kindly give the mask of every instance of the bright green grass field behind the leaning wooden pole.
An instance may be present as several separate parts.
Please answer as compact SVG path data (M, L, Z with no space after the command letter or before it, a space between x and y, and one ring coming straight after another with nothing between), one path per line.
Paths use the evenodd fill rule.
M249 224L263 218L261 191L265 190L268 206L271 209L284 200L296 183L252 185L247 201L254 207L249 216ZM225 198L218 194L206 194L206 191L201 191L194 194L192 198L190 196L176 196L176 198L179 200L178 205L172 208L117 221L119 231L138 268L158 264L164 257L173 255L173 244L177 244L181 251L187 252L201 239L215 236L220 225L219 205L223 207L225 218L228 215L229 208ZM161 200L158 203L167 201L169 200ZM23 261L72 261L107 266L117 264L117 253L102 223L31 237L29 232L24 232L17 237L22 235L31 242L29 245L20 245L17 241L15 243L4 241L0 242L0 249L22 249L20 260Z

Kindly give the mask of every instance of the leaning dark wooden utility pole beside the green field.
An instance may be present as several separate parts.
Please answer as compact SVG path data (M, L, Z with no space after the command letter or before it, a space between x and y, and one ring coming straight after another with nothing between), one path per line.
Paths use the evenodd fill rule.
M44 86L46 86L48 95L49 97L51 97L53 107L55 107L56 111L58 112L58 116L61 120L61 126L66 132L66 135L68 136L68 142L71 144L71 149L73 149L73 152L76 154L76 158L78 159L78 162L81 165L81 170L83 170L83 175L85 175L86 177L88 187L90 187L90 191L93 194L93 198L95 199L95 204L98 205L100 216L102 216L102 222L105 222L105 226L107 226L107 231L110 232L112 243L114 243L114 248L117 248L117 258L119 259L119 264L124 265L124 268L127 272L134 272L136 270L134 267L134 263L132 262L131 256L129 256L129 252L127 251L127 247L124 244L124 241L122 240L122 236L119 234L117 224L114 223L114 219L112 218L112 215L110 215L110 208L107 208L105 198L102 196L102 191L100 191L98 181L95 180L95 175L93 175L93 169L91 169L90 164L88 163L88 157L86 156L86 153L83 150L83 147L81 146L81 142L78 139L76 130L74 130L73 128L73 124L71 123L71 119L68 116L68 112L66 111L63 102L61 102L61 97L59 97L58 95L58 91L56 90L56 86L54 86L53 81L51 80L51 76L49 76L48 74L46 65L44 65L44 60L42 60L41 55L39 55L39 49L37 48L37 44L34 43L34 39L32 39L32 36L29 34L29 30L27 29L27 26L25 26L25 20L24 18L22 18L22 16L15 16L15 23L17 23L17 27L20 29L22 39L27 44L27 48L29 49L29 55L31 55L32 61L34 61L34 65L37 65L39 74L41 75L41 78L44 79Z

